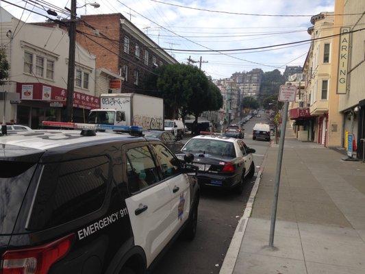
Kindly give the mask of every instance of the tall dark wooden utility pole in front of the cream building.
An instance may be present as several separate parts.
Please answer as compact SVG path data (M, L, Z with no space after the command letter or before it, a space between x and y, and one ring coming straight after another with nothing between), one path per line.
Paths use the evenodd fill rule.
M73 121L73 90L75 86L75 46L76 46L76 0L71 0L71 20L68 25L68 74L65 122Z

